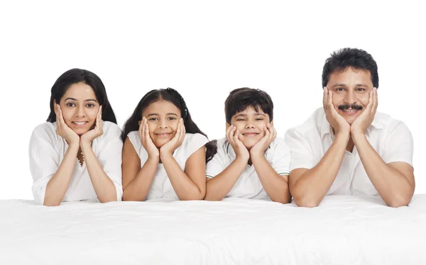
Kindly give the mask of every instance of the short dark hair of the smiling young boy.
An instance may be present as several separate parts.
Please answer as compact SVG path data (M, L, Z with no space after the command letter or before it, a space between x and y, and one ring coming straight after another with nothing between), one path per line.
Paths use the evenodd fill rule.
M226 98L226 123L231 124L232 116L244 111L249 106L253 107L256 111L259 111L259 108L261 108L264 113L269 115L269 120L273 120L273 102L271 96L260 89L243 87L241 89L234 89Z

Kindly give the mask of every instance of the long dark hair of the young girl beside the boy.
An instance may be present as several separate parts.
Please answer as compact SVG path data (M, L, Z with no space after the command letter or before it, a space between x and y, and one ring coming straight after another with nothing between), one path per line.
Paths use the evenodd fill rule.
M185 125L185 130L187 133L200 133L207 137L205 133L203 133L200 128L194 123L191 118L190 111L188 111L185 101L182 96L180 96L179 92L175 89L153 89L149 91L141 101L139 101L138 106L136 106L133 114L130 116L126 123L124 123L123 133L121 133L121 139L126 140L127 135L133 130L139 130L139 120L142 120L142 112L148 108L152 103L157 101L169 101L179 108L180 113L182 115L183 124ZM205 145L206 150L206 163L209 162L217 153L217 145L216 142L211 141L207 142Z

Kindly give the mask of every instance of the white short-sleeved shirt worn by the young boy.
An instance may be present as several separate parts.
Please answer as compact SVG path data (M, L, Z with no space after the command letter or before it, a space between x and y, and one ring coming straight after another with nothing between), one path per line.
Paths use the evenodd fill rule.
M225 138L217 141L217 154L207 163L206 176L213 178L220 174L236 158L234 149ZM265 158L280 175L288 175L290 167L290 149L285 145L285 140L276 137L265 152ZM261 184L261 180L253 165L246 165L241 176L225 198L253 198L271 200Z

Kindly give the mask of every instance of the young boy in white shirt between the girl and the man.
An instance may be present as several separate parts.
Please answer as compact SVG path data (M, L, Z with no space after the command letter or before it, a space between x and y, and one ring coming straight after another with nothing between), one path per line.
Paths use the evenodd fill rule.
M226 137L207 163L204 200L254 198L289 203L290 150L273 128L273 102L259 89L231 91L225 101Z

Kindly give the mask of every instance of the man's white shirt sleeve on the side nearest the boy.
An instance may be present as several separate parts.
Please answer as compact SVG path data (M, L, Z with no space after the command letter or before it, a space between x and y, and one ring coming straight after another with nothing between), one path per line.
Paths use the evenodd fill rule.
M311 145L295 128L291 128L285 133L285 143L290 148L290 172L293 169L312 169L312 167L315 167Z

